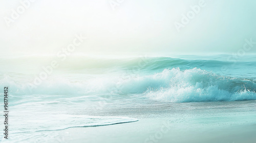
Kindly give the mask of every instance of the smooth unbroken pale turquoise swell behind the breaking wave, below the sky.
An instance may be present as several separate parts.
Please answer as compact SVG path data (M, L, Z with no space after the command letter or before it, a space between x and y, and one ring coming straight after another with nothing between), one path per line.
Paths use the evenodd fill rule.
M47 59L47 60L46 60ZM2 59L3 60L3 59ZM13 66L38 66L38 64L47 65L51 60L57 60L60 65L58 69L81 70L95 68L118 68L124 70L155 70L167 67L187 67L189 65L197 66L222 66L232 62L219 60L185 60L169 57L133 57L133 58L97 58L97 57L72 57L63 63L56 57L18 57L5 59L3 63L12 64ZM8 61L8 62L7 62ZM1 58L0 58L1 62ZM238 61L237 61L238 62Z

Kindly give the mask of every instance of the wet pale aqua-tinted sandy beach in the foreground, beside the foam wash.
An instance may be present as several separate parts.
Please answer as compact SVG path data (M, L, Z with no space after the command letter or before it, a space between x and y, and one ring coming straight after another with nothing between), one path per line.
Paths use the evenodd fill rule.
M98 127L26 133L38 142L223 142L254 143L256 101L154 103L115 110L88 108L84 114L135 117L139 121ZM80 114L80 113L79 113ZM30 136L31 134L31 136ZM33 136L32 136L33 135Z

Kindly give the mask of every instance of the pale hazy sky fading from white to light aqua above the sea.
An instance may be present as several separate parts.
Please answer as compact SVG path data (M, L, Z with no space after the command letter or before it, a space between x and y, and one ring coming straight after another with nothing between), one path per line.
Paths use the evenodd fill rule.
M236 53L256 42L251 0L33 1L0 1L1 53L56 54L80 33L88 39L74 53Z

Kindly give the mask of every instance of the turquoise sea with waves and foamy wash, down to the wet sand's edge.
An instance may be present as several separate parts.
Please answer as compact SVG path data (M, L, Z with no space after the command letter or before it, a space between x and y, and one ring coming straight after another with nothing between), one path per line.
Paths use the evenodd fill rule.
M53 60L58 67L38 82L46 72L42 66ZM119 116L109 109L256 100L255 63L252 55L71 56L65 61L54 56L2 57L0 87L10 89L10 138L26 142L36 132L139 120L136 114Z

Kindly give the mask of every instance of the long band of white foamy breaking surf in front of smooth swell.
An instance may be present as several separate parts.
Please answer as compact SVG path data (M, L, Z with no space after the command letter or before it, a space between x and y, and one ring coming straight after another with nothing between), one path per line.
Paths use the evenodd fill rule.
M167 102L256 100L256 82L213 74L199 68L164 69L152 75L112 75L90 79L51 77L29 90L22 82L5 76L1 85L10 85L11 94L87 96L92 94L141 94Z

